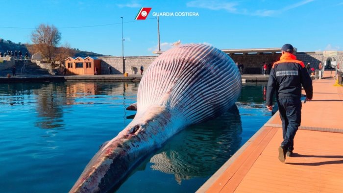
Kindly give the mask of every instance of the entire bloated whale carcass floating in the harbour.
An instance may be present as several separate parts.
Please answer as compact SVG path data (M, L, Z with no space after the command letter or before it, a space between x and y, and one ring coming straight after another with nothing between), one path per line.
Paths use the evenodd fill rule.
M174 134L228 110L241 86L237 66L218 48L187 44L164 52L142 77L135 118L100 147L70 192L111 190Z

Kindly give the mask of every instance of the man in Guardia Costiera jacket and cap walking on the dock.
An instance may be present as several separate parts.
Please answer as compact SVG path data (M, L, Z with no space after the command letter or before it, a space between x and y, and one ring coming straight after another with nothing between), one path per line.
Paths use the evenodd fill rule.
M301 85L306 92L306 100L313 95L312 80L304 63L296 60L293 46L285 44L281 48L280 60L270 71L267 87L267 108L272 110L272 98L276 91L276 100L282 121L283 142L279 147L279 160L285 162L286 155L291 157L294 150L294 136L301 122Z

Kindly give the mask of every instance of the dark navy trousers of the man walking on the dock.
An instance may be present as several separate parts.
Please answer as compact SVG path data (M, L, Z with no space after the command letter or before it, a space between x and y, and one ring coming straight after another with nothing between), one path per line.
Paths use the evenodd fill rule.
M279 98L277 105L282 121L282 137L284 139L281 146L288 151L293 151L294 136L301 122L301 100L297 97Z

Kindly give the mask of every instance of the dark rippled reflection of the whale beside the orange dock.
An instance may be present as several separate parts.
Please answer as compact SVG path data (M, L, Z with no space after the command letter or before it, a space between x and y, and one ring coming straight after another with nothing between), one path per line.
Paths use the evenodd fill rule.
M173 137L150 159L150 167L175 175L179 184L212 175L237 151L241 133L241 117L235 105L221 117L191 126Z

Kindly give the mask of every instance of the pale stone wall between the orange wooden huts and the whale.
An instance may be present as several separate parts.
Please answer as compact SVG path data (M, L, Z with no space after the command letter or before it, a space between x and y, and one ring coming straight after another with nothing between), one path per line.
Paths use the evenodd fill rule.
M122 57L98 57L101 60L101 74L109 74L108 66L112 68L112 74L123 74ZM125 57L125 72L129 74L140 74L140 67L144 70L157 58L157 56L129 56Z

